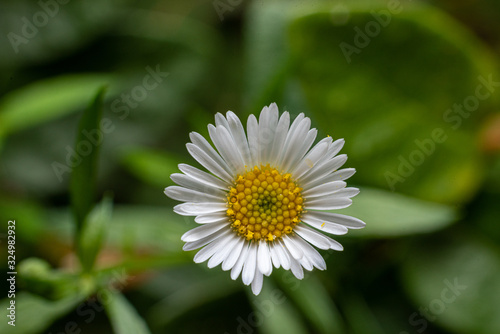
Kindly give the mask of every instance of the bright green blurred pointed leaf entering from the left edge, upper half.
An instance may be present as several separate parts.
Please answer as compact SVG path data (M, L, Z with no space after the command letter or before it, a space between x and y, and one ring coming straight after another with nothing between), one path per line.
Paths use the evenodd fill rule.
M64 75L7 94L0 100L0 138L78 110L109 81L98 74Z

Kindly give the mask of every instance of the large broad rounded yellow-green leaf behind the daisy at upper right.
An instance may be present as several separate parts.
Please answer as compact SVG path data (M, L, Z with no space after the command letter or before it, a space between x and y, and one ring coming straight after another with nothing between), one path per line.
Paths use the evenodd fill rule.
M475 97L482 80L496 77L493 58L433 7L404 3L385 27L369 9L352 12L344 25L332 22L330 12L291 24L291 68L313 119L348 139L351 164L369 166L358 169L358 182L444 203L469 200L484 174L475 132L494 98L476 97L470 115L451 109ZM388 13L375 13L381 10ZM368 23L380 33L363 33L368 42L356 47L362 45L356 29ZM349 54L346 45L357 51ZM491 96L486 87L481 92Z

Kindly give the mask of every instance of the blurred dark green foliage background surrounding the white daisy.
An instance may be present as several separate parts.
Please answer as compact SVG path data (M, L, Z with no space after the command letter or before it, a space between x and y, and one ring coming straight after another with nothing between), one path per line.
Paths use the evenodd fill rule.
M499 18L495 0L3 1L0 332L499 333ZM106 131L77 137L104 86ZM163 189L197 166L189 132L272 102L345 138L361 193L341 213L366 228L255 297L181 250L196 224ZM69 189L93 184L106 234L80 241L82 274Z

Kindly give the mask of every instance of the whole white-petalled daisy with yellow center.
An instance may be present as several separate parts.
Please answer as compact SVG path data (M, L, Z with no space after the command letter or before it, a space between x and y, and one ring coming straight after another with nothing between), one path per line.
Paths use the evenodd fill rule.
M344 182L355 170L339 169L347 160L337 155L343 139L326 137L313 146L318 131L304 114L290 125L290 114L280 117L273 103L258 121L248 117L246 133L231 111L215 115L208 131L215 148L196 132L186 145L208 173L180 164L182 173L171 176L178 186L165 189L168 197L184 202L174 211L195 216L201 225L182 236L184 250L203 247L194 262L208 260L209 268L222 264L233 280L241 274L257 295L273 267L291 270L298 279L303 269L325 270L316 248L343 248L324 233L365 226L329 211L348 207L359 193Z

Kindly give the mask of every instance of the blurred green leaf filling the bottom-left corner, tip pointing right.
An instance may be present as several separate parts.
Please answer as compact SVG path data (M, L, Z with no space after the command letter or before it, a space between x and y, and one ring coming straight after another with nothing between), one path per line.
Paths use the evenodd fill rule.
M0 333L2 334L39 334L58 318L69 313L79 303L83 302L86 296L82 294L74 295L58 301L50 301L42 297L32 295L27 292L16 293L16 326L7 323L5 316L0 322ZM2 310L10 307L11 299L0 301Z

